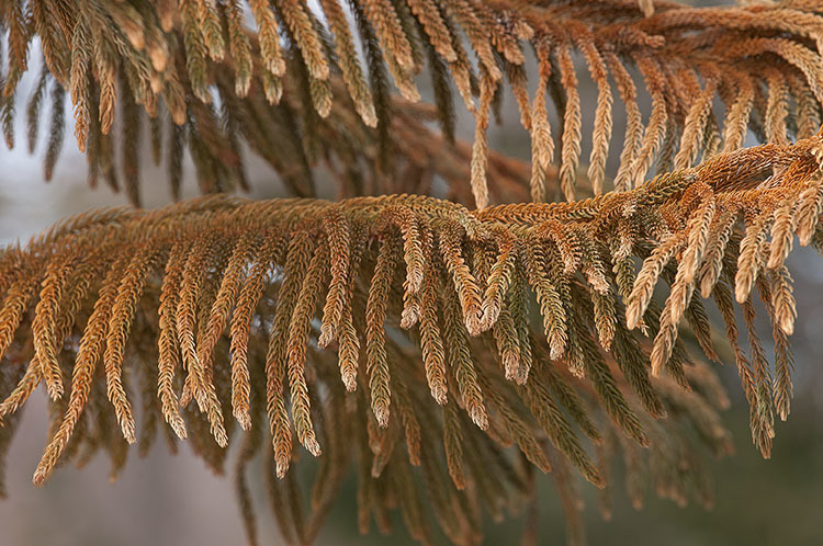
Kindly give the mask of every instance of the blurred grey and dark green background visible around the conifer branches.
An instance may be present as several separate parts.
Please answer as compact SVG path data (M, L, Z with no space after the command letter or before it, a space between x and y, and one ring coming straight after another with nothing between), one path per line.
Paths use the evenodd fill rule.
M30 75L21 83L19 96L25 100ZM419 80L421 90L428 78ZM583 104L594 104L596 91L580 72ZM22 110L22 109L19 109ZM591 126L594 109L584 107L584 135ZM70 112L67 104L67 111ZM552 112L553 113L553 112ZM615 137L610 160L622 143L622 109L615 110ZM70 117L70 116L69 116ZM43 115L42 118L47 118ZM527 133L517 123L510 96L504 107L504 124L493 126L492 146L498 151L528 159ZM557 127L556 117L553 126ZM122 194L105 186L94 191L86 184L86 161L76 148L71 127L66 128L65 146L50 183L43 180L43 147L25 150L24 116L18 120L18 146L0 147L0 242L24 242L27 237L59 218L101 206L125 205ZM459 134L471 138L472 121L460 120ZM41 132L42 135L45 127ZM586 139L584 138L584 145ZM749 143L753 144L753 143ZM144 149L147 149L144 146ZM583 151L587 157L588 150ZM247 153L251 197L281 194L272 172ZM170 201L166 173L150 160L142 167L146 206ZM613 174L615 164L610 164ZM184 196L196 195L191 163L184 166ZM678 508L657 500L649 492L642 511L631 508L616 476L612 491L613 517L602 521L596 505L597 491L582 484L587 501L585 519L589 543L596 545L821 545L823 544L823 260L808 249L792 255L789 268L798 297L798 327L791 338L794 361L794 401L787 422L777 424L773 459L764 460L754 448L748 432L747 405L732 363L719 369L730 393L732 409L725 423L735 439L737 454L711 462L715 478L715 507L704 511L696 505ZM763 325L765 326L765 325ZM764 342L768 330L762 329ZM121 478L109 481L109 462L99 454L88 467L64 467L42 489L31 482L32 473L46 442L46 405L42 391L30 400L7 460L9 498L0 501L0 544L64 546L93 545L226 545L245 541L230 479L214 476L193 457L185 442L180 453L168 454L158 442L148 457L126 465ZM232 455L229 455L230 457ZM230 466L230 465L229 465ZM250 476L253 476L250 473ZM540 480L540 544L564 544L565 524L560 501L550 485ZM268 512L262 482L252 481L258 511L260 543L281 544ZM395 532L383 537L373 531L360 536L357 530L356 486L349 480L331 512L318 544L412 544L396 521ZM511 544L519 539L522 519L504 524L488 522L487 544Z

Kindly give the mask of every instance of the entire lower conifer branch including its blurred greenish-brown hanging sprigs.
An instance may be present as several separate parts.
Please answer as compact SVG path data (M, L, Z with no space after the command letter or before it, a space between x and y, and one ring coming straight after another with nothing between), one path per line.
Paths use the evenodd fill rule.
M271 484L275 504L292 494L296 439L320 460L309 515L278 515L301 543L316 533L350 460L361 528L371 515L384 526L398 507L424 542L422 496L452 541L471 543L474 503L499 515L500 500L529 494L531 466L553 469L566 500L567 465L604 486L607 468L587 437L600 460L622 452L634 477L647 458L658 492L708 501L686 431L712 453L730 452L713 409L728 401L710 369L690 361L679 325L685 318L717 359L694 294L714 300L754 441L768 456L774 412L785 418L791 398L794 302L783 260L794 235L801 244L823 241L822 162L816 135L568 204L473 212L414 195L210 196L89 213L0 255L2 377L15 385L0 416L13 420L44 384L56 411L34 481L89 448L108 450L116 473L138 437L129 396L138 390L146 424L162 419L167 433L191 436L215 468L224 447L244 439L244 469L261 439L286 480ZM661 278L670 287L662 309L651 297ZM774 371L754 328L753 292L774 325ZM226 422L228 411L246 433ZM504 455L510 445L526 466Z

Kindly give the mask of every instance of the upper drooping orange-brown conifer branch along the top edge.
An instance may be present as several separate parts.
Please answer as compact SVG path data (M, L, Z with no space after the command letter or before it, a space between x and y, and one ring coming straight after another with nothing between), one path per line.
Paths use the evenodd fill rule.
M139 7L90 0L77 9L65 1L31 0L25 9L21 0L7 4L0 14L9 42L0 101L7 143L13 143L14 94L30 65L27 46L37 36L45 69L27 112L34 141L37 105L44 89L53 89L46 172L61 144L58 103L68 92L75 136L89 157L92 182L102 171L116 185L111 130L115 117L122 121L123 184L133 201L134 145L143 117L138 105L150 118L154 150L161 149L160 136L168 133L172 187L179 184L183 141L205 192L244 186L240 141L246 140L295 195L311 196L307 166L323 156L324 147L335 148L345 163L337 148L358 141L349 134L353 120L346 120L348 130L341 132L335 104L348 98L346 111L357 113L363 128L376 127L376 138L369 140L382 146L385 159L394 133L390 80L406 100L417 101L414 77L426 65L444 136L453 135L452 87L475 115L471 178L478 208L488 203L489 112L504 87L531 135L530 187L537 201L546 200L545 170L554 150L562 192L570 201L575 197L583 77L597 88L594 126L585 132L591 135L588 178L595 194L605 187L617 99L627 116L613 181L618 190L640 184L655 161L658 172L691 167L739 148L748 129L763 140L786 144L792 136L811 136L821 120L823 16L813 2L731 8L661 3L653 10L645 0L352 0L348 7L323 0L317 11L303 0L180 0ZM246 9L251 27L245 25ZM585 61L585 70L576 69L575 56ZM537 79L533 96L529 75ZM639 106L643 90L652 100L645 122ZM550 126L546 93L562 127ZM724 103L722 112L713 107L715 98ZM167 117L176 125L165 129ZM404 141L392 149L403 153L410 146ZM284 164L283 157L300 161ZM302 166L297 173L286 168L295 162Z

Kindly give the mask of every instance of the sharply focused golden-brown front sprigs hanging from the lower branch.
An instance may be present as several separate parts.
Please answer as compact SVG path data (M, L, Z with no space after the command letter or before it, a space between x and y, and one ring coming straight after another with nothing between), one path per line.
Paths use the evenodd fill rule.
M787 230L802 234L801 242L808 242L807 234L818 229L820 138L718 156L629 194L576 204L470 212L420 196L359 197L336 204L313 200L255 203L216 196L154 213L69 220L27 249L7 250L0 262L2 349L18 354L32 343L34 354L16 389L3 402L3 412L13 412L41 380L53 397L61 396L57 386L64 373L56 363L63 360L58 352L68 337L78 346L71 366L71 398L37 480L50 474L79 422L100 362L117 426L133 441L135 424L124 367L131 359L129 338L148 331L157 340L157 397L167 422L181 437L191 430L183 423L178 399L184 407L196 401L206 417L205 429L218 445L228 442L229 430L222 417L228 403L240 426L251 430L256 426L255 382L259 380L255 377L266 378L267 414L282 476L292 458L292 426L309 452L320 453L316 416L322 408L315 405L323 402L315 401L314 393L317 382L326 379L317 375L320 361L313 355L316 349L337 342L335 374L349 391L358 384L365 388L365 403L386 434L393 426L390 400L392 406L398 400L399 419L406 423L412 445L417 442L414 421L404 408L407 401L396 398L410 385L415 389L425 386L440 405L456 401L484 430L496 422L497 413L485 407L492 396L494 408L503 412L507 434L533 462L545 466L523 416L508 407L507 395L488 393L500 385L531 380L534 353L529 308L537 304L551 360L563 359L561 369L568 369L576 380L593 382L616 425L645 442L646 433L623 397L635 393L653 414L662 413L644 377L650 371L659 375L666 369L685 380L677 339L681 317L696 325L701 343L713 354L706 344L709 326L702 308L694 307L697 304L691 300L698 283L701 294L717 296L729 316L731 300L724 299L726 288L718 280L735 280L737 295L746 296L752 335L747 287L757 286L769 304L776 335L782 340L792 331L794 299L781 259L788 247ZM768 169L779 175L758 178ZM627 234L621 230L630 225L631 234L623 240ZM768 232L771 241L766 240ZM622 250L612 254L607 247L615 237ZM780 246L776 261L767 263L768 249ZM621 257L631 254L646 259L627 294L618 278L628 275L622 272ZM160 264L165 266L158 277ZM672 282L662 312L656 305L650 306L661 276ZM35 297L37 285L41 289ZM527 286L533 296L523 292ZM93 309L82 311L89 289L98 297ZM628 295L624 310L616 293ZM159 309L156 326L146 328L143 306ZM32 341L20 338L26 329L21 323L29 325L29 309L34 311ZM90 315L80 334L72 323L83 312ZM229 321L232 362L225 367L219 355L228 349L223 338ZM403 332L415 325L419 338ZM649 354L629 341L629 330L638 326L655 335ZM365 340L368 382L359 380L357 374L360 335ZM401 350L398 337L412 341L419 353ZM260 351L261 338L269 339L269 348L264 368L257 371L250 355ZM483 357L475 361L480 353L474 345L480 340L496 348L493 353L499 356L499 371L493 372ZM615 379L608 361L602 360L612 345L616 363L629 378L628 387ZM778 362L780 400L788 399L790 386L790 356L783 345ZM406 364L399 365L397 359ZM759 431L756 437L765 442L770 425L763 405L773 403L764 390L767 363L759 352L752 362L751 399L757 414L765 416L754 421ZM180 398L179 364L185 372ZM748 374L746 369L743 365L741 373ZM227 374L225 379L223 374ZM399 383L407 387L398 387ZM420 393L402 396L418 399ZM787 408L780 402L779 412L786 414ZM450 442L458 434L451 411L446 412ZM450 453L449 464L460 480L453 446Z

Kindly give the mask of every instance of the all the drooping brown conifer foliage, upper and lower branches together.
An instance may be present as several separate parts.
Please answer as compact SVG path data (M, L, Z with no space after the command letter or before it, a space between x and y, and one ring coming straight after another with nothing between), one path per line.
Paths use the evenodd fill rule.
M129 444L146 453L158 435L172 448L190 437L222 470L234 441L252 543L246 469L263 453L289 542L314 539L353 466L363 532L372 519L386 531L396 508L424 543L436 523L472 544L484 513L537 502L537 467L551 471L570 541L579 542L572 467L604 488L622 459L635 505L647 478L659 496L711 503L701 454L732 452L718 414L729 402L690 354L720 360L719 339L731 345L753 441L769 456L775 413L786 419L791 399L796 310L783 262L796 235L823 243L815 3L322 0L322 12L297 0L46 3L2 5L9 146L36 35L44 64L26 114L33 148L50 94L47 178L68 92L92 183L102 172L119 184L120 103L132 202L146 117L172 195L184 147L203 193L217 195L87 213L0 254L0 453L43 384L49 441L35 484L99 450L116 475ZM597 88L594 196L582 201L573 55ZM433 107L413 104L425 64ZM627 126L613 191L604 192L609 76ZM452 86L475 117L471 145L454 138ZM504 87L530 133L530 171L488 149ZM562 121L554 136L546 95ZM740 149L748 130L768 144ZM221 193L247 186L245 147L293 198ZM658 175L643 182L655 161ZM316 198L320 163L339 201ZM438 177L450 201L425 195ZM550 182L568 202L543 203ZM527 192L532 203L486 206ZM754 292L771 322L774 367ZM288 471L300 458L295 440L319 462L308 503Z

